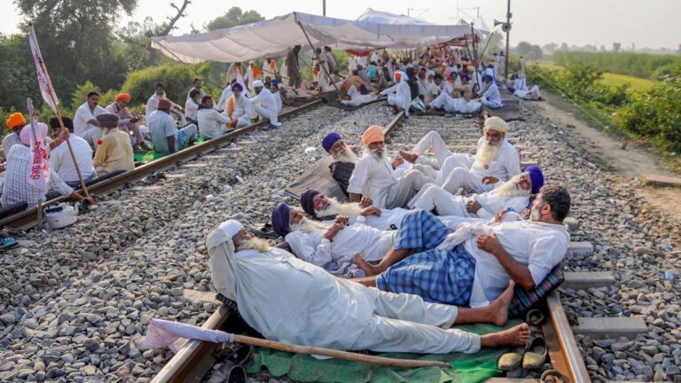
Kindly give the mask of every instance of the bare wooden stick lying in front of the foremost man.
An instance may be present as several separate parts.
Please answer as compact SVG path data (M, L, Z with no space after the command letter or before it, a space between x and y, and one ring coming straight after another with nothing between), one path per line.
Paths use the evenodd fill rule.
M419 367L441 367L450 369L451 364L440 361L427 360L413 360L413 359L396 359L382 356L366 356L362 354L351 353L348 351L339 351L329 348L315 348L309 346L295 346L287 343L278 342L275 340L262 340L259 338L248 337L245 335L234 335L234 341L237 343L249 344L262 348L272 348L280 351L286 351L294 354L308 354L331 356L336 359L348 360L353 362L362 362L370 364L379 364L398 368L419 368Z

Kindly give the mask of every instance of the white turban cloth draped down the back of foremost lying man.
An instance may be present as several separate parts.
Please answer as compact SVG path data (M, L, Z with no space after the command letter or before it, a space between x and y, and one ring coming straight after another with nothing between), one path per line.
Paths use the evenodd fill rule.
M234 279L234 242L233 237L244 228L236 220L220 223L208 234L206 247L210 256L210 277L218 293L236 301L236 280Z

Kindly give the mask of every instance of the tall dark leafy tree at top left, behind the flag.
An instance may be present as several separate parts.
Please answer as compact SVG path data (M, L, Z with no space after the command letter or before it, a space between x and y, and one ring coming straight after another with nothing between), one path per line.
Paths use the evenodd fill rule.
M132 13L137 0L16 0L15 4L35 25L58 94L70 94L83 79L103 89L121 85L128 67L112 30L122 13Z

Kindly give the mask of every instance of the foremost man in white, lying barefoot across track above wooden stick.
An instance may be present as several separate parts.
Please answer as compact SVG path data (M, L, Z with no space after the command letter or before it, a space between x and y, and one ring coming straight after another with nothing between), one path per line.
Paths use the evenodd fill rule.
M527 324L477 335L453 324L505 324L513 285L489 307L426 303L333 277L254 238L235 220L206 240L215 289L236 301L244 320L269 340L340 350L447 354L522 346Z

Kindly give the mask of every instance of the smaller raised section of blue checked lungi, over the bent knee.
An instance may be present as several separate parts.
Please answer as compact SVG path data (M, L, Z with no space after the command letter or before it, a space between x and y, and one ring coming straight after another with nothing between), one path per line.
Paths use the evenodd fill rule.
M415 210L403 216L395 238L395 250L412 249L422 253L434 249L454 231L426 210Z

